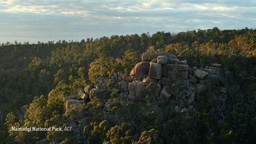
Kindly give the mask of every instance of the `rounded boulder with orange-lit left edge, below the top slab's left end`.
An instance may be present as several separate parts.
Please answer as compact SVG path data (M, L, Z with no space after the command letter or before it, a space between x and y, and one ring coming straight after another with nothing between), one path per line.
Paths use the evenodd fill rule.
M149 74L149 67L150 67L149 61L142 61L140 63L137 63L133 70L131 71L131 74L138 77L144 77L145 75Z

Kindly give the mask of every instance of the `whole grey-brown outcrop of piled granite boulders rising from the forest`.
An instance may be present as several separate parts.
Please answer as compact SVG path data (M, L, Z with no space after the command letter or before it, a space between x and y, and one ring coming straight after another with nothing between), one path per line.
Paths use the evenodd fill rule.
M79 94L67 97L65 108L67 110L70 105L91 103L90 99L103 99L104 109L108 111L112 103L108 101L109 95L116 92L129 101L144 99L147 95L159 101L181 101L175 111L186 112L186 118L190 118L190 113L197 111L195 103L205 101L209 83L216 83L219 92L226 93L220 64L191 68L186 60L180 61L167 52L144 53L142 62L137 63L131 72L118 72L98 78L95 85L88 85Z

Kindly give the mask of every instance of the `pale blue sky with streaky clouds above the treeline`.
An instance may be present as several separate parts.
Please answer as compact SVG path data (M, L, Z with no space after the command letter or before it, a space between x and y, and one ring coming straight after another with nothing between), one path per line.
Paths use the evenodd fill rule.
M0 43L256 28L255 0L0 0Z

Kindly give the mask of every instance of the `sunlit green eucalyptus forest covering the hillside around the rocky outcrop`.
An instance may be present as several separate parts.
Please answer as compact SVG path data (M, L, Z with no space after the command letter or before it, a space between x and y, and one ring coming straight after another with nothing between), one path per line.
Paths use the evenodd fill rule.
M0 44L0 143L255 143L256 29L193 30L172 34L100 37L81 41ZM98 77L131 72L144 52L169 52L189 67L220 63L226 94L210 83L197 112L175 112L178 99L131 101L114 92L71 105L65 98L94 85ZM105 86L111 88L111 81ZM187 107L187 104L182 104ZM151 110L148 112L148 110ZM67 117L63 121L63 114ZM12 127L72 127L25 132Z

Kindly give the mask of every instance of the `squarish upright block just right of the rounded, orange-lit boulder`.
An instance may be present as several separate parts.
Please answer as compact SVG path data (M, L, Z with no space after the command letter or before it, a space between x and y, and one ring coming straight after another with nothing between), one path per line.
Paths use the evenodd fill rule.
M149 77L151 77L152 79L161 79L162 65L158 63L150 63Z

